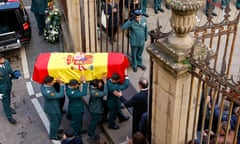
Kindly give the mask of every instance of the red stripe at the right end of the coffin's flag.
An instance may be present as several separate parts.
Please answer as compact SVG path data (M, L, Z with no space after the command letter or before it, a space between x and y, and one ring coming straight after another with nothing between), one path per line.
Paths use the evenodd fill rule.
M107 77L113 73L118 73L121 82L124 80L124 70L129 66L128 58L122 53L108 53Z

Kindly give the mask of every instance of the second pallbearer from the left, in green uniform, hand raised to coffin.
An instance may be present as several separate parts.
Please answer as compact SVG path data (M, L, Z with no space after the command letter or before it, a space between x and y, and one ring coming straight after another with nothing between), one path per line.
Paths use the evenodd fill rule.
M75 135L81 135L86 133L86 130L82 129L82 118L84 113L84 103L82 100L83 96L87 95L88 84L86 83L86 78L81 76L82 90L80 90L80 81L76 79L70 80L68 86L66 87L66 94L69 99L68 113L71 115L71 124L75 130Z

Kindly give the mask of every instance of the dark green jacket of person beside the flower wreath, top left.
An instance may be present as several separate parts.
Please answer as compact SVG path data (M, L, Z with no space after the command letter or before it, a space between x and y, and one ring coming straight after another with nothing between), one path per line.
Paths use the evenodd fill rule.
M45 14L48 8L48 0L32 0L31 11L37 14Z

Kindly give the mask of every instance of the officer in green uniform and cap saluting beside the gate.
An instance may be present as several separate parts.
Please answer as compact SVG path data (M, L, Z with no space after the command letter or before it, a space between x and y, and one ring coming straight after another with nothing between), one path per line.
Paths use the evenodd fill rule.
M142 64L142 53L145 41L148 38L148 28L147 20L142 15L142 10L137 9L134 11L133 16L122 25L122 29L130 29L131 58L134 72L137 72L137 67L143 70L146 69Z

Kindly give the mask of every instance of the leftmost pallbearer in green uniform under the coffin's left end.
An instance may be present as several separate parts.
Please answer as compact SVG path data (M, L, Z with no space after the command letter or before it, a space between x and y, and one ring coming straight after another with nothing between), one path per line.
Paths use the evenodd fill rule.
M55 81L52 76L44 78L44 84L41 85L41 92L44 98L44 112L49 120L49 138L52 140L60 140L58 129L62 121L62 114L59 104L59 99L64 97L64 84L57 80L60 84L59 92L56 92L53 87Z

